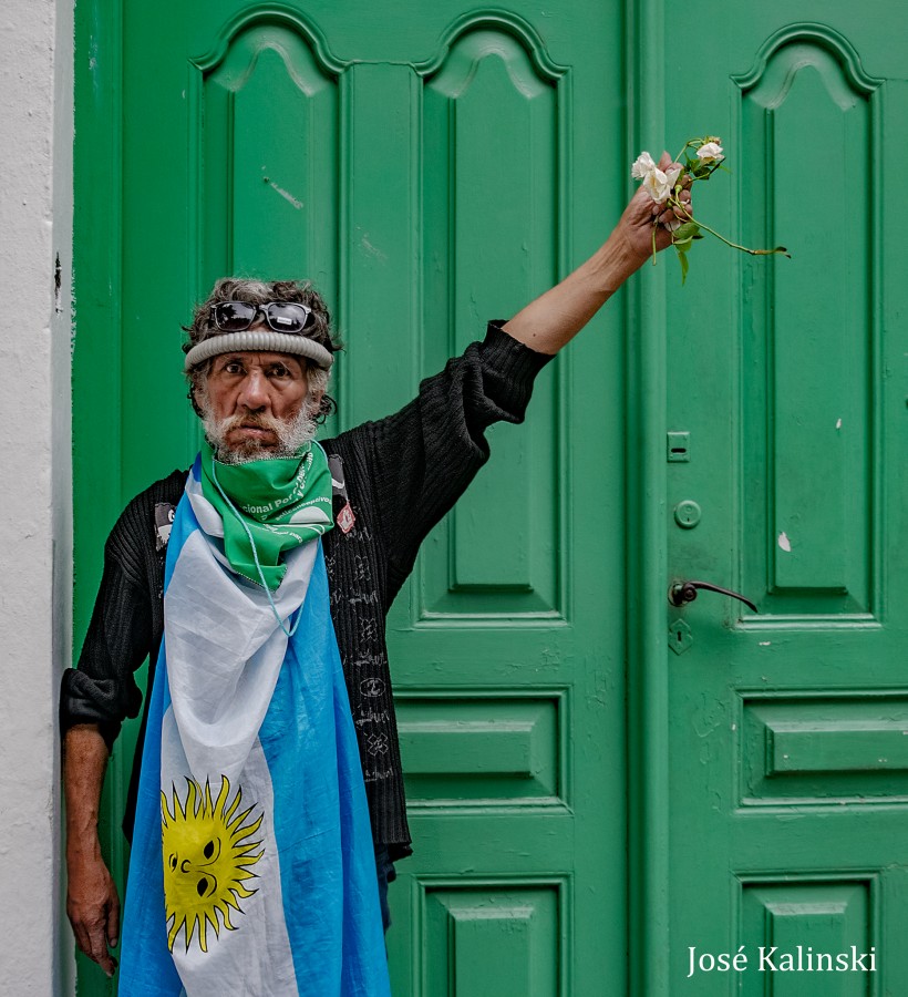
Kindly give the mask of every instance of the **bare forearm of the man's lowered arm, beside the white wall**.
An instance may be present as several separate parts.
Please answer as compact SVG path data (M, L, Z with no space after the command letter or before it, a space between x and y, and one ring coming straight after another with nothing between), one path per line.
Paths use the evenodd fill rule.
M97 724L79 723L63 738L63 792L66 799L66 856L100 854L97 814L107 767L107 746Z

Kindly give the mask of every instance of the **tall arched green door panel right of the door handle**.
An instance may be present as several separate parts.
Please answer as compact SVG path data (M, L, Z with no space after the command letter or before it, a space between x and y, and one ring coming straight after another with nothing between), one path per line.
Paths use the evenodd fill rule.
M782 238L787 225L798 243L794 266L745 271L742 548L763 613L869 623L880 597L871 249L883 81L848 54L802 31L735 81L742 147L757 164L742 192L746 237ZM822 189L787 165L811 160L828 164Z

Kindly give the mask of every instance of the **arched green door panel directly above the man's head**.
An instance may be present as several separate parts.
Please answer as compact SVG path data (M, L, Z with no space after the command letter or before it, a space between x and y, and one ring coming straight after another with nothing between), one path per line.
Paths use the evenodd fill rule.
M218 55L190 73L203 285L292 260L334 300L339 78L286 23L252 22Z

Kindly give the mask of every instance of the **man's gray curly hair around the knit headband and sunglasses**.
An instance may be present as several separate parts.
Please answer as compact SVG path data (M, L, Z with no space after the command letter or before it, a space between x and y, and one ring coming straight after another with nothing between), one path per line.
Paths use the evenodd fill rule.
M324 299L306 281L298 280L248 280L240 277L223 277L211 288L211 294L193 312L193 321L184 326L189 333L189 341L183 345L183 352L189 350L211 336L217 336L220 330L211 319L211 307L220 301L246 301L249 305L266 305L268 301L293 301L312 309L312 322L305 332L309 339L323 346L332 353L342 349L341 342L331 332L331 315ZM287 333L282 333L287 335ZM189 401L193 410L199 419L203 418L196 395L203 391L205 381L211 371L214 359L203 360L186 371L186 380L189 383ZM324 391L328 388L329 371L317 367L314 363L306 364L306 376L310 390ZM324 422L324 418L337 409L337 404L328 394L322 394L317 422Z

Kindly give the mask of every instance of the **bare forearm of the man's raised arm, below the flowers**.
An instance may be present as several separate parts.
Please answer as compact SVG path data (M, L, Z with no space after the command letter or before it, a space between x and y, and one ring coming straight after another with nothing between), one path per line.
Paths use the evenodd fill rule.
M641 263L616 230L585 264L530 301L503 328L539 353L557 353Z

